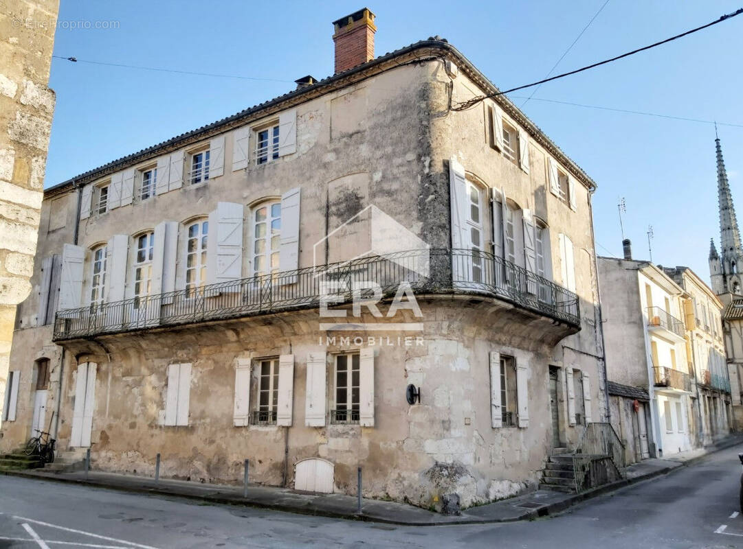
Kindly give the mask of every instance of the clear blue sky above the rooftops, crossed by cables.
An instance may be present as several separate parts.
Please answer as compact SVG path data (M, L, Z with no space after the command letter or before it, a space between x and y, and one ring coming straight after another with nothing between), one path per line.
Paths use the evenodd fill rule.
M542 79L605 0L386 1L376 53L438 34L500 88ZM358 2L69 1L62 21L116 21L116 30L56 31L54 51L79 59L251 76L209 78L53 59L56 111L46 186L213 122L333 72L331 22ZM656 42L736 10L736 1L609 4L556 73ZM535 99L743 124L743 16L629 59L542 85ZM531 91L516 93L528 96ZM517 105L523 99L512 97ZM620 114L532 99L523 107L598 183L597 252L621 255L617 199L635 257L687 265L709 280L719 239L712 125ZM743 128L720 125L730 185L743 211Z

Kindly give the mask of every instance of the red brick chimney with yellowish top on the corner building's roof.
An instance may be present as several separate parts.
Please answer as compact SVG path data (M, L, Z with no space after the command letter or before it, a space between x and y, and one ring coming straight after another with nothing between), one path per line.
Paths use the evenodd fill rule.
M335 73L374 59L374 13L363 8L333 22L335 33Z

